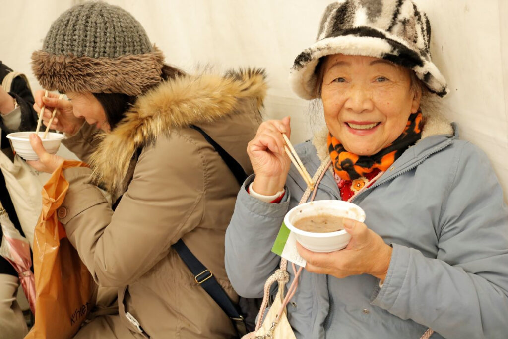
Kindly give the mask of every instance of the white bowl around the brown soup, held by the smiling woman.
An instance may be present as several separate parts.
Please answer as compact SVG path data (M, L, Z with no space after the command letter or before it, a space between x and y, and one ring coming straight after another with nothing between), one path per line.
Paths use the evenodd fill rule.
M298 242L313 252L333 252L343 249L351 239L344 229L328 233L302 231L295 226L297 220L311 215L331 214L337 217L365 221L365 212L359 206L341 200L316 200L292 208L284 217L284 224L295 234ZM342 225L340 226L342 228Z

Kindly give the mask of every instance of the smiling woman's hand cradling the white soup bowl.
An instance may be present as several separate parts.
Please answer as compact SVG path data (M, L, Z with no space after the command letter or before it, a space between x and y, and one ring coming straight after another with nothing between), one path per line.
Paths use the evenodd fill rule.
M316 253L297 243L298 252L307 261L305 269L336 278L367 273L384 281L392 258L391 246L364 223L344 219L344 229L352 238L343 250Z

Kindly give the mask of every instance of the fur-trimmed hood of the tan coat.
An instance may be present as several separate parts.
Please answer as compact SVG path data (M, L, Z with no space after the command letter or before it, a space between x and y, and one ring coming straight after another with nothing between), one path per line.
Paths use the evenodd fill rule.
M238 116L236 120L246 122L237 122L236 131L243 127L255 133L257 128L250 122L261 121L266 90L261 69L185 75L161 83L140 96L113 131L98 136L99 146L90 158L92 182L110 192L118 191L136 150L154 145L158 137L169 135L172 129L197 125L222 145L228 129L214 129L213 125L228 124ZM227 145L223 148L232 151ZM242 150L245 152L245 148ZM248 168L245 157L231 156Z

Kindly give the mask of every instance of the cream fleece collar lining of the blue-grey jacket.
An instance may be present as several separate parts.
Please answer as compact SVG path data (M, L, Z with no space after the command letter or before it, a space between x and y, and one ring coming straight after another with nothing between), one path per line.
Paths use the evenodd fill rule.
M424 126L422 129L422 138L418 142L433 135L454 134L454 128L451 122L439 112L440 105L433 99L430 100L430 102L422 102L421 104ZM312 138L312 144L317 150L317 156L322 162L328 162L330 160L327 138L328 128L326 126L316 129Z

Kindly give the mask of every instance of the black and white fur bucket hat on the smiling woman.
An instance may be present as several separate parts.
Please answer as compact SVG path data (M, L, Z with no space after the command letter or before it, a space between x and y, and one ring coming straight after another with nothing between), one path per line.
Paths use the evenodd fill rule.
M429 20L410 0L338 1L326 8L316 42L296 57L290 83L299 97L315 99L321 57L365 55L414 71L431 93L444 97L447 82L432 63L429 45Z

